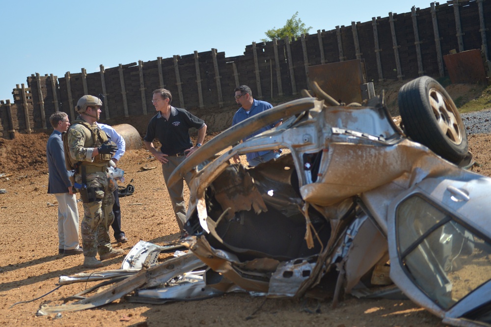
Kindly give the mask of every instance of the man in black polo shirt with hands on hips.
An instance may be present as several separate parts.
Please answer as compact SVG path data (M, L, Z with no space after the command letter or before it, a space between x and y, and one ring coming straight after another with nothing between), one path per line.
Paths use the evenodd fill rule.
M166 185L174 169L201 146L206 135L206 124L203 120L185 109L172 107L170 105L171 101L172 95L168 90L159 88L153 91L152 103L158 113L150 119L147 126L147 134L143 137L143 143L148 151L162 164L162 173L164 174ZM196 146L192 146L191 138L189 137L190 128L198 130ZM160 151L157 151L153 144L155 138L162 144ZM184 180L189 186L191 172L184 176ZM188 235L184 229L186 204L184 203L183 188L183 180L172 187L167 185L172 208L181 230L181 238Z

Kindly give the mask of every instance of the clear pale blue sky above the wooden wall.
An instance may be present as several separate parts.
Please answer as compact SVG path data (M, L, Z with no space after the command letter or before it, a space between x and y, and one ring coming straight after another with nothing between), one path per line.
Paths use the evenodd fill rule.
M13 100L16 84L27 86L27 76L35 73L61 78L82 68L99 72L100 64L109 68L212 48L240 55L296 11L314 34L410 12L413 5L424 9L431 1L2 1L0 100Z

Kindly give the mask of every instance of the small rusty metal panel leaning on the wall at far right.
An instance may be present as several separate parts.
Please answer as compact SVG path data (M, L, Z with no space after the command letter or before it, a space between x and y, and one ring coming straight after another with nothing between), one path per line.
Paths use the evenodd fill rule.
M452 83L487 83L483 58L479 49L443 56Z

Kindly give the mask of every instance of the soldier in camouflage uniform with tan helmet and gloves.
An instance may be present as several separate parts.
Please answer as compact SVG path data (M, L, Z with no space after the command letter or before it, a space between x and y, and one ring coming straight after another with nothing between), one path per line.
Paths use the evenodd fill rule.
M124 254L123 249L113 249L109 239L109 226L114 220L112 192L117 184L108 176L111 155L116 145L108 139L96 121L101 114L99 98L84 95L75 109L80 114L67 132L68 161L75 170L75 185L79 186L84 216L81 234L83 266L102 267L100 260ZM100 260L96 255L99 253Z

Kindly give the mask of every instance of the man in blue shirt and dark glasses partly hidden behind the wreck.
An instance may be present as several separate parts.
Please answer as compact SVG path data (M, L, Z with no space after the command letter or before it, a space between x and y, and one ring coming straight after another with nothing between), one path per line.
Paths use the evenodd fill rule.
M235 101L237 102L237 104L241 105L241 108L237 110L237 112L234 114L232 126L240 123L243 120L246 120L250 116L273 108L273 106L266 101L254 100L252 98L252 91L247 85L241 85L235 88ZM281 120L255 131L253 134L246 136L243 141L246 141L252 136L263 133L264 131L270 130L273 127L278 127L279 125L281 125ZM270 161L271 159L276 159L280 156L280 154L281 153L277 150L249 152L246 154L246 158L249 166L254 167L258 164ZM234 156L234 162L237 164L240 163L239 155Z

